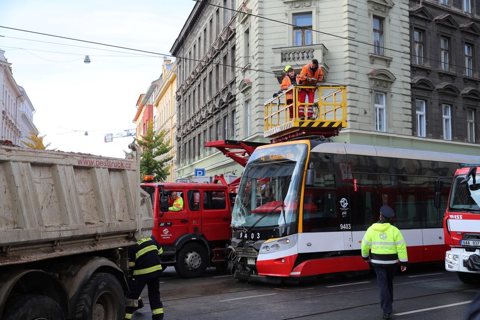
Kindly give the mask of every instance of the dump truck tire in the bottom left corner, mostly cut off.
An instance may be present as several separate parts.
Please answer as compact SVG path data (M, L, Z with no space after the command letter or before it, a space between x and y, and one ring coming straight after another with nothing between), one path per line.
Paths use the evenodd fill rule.
M64 320L62 309L51 297L37 294L15 295L6 304L2 320Z

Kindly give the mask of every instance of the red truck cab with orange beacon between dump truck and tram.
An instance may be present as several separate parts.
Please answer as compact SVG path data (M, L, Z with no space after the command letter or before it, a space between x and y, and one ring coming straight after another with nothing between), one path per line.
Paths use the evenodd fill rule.
M147 182L141 187L152 201L152 234L163 248L163 268L174 266L184 278L201 276L207 267L227 269L235 194L226 185ZM183 199L179 211L168 210L172 191Z

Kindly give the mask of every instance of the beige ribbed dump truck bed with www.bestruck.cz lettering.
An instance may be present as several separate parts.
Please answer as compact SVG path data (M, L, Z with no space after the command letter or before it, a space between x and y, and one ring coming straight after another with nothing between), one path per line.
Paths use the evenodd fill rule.
M0 145L0 266L132 244L153 227L139 161Z

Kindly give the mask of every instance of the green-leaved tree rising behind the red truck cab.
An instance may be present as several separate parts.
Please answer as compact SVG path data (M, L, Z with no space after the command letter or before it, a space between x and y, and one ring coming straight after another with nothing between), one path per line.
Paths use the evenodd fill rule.
M141 139L135 139L136 143L142 148L142 155L140 160L140 174L141 176L147 174L154 175L154 181L165 181L170 174L168 166L165 165L173 157L165 157L158 160L161 155L164 155L172 149L170 146L170 139L165 139L165 132L162 130L156 133L153 129L153 121L150 120L147 126L147 134L140 135Z

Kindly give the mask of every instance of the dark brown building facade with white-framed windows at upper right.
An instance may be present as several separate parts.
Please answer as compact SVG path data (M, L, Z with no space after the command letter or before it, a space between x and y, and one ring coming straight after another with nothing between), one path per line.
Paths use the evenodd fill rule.
M478 153L480 1L410 1L410 48L413 135Z

